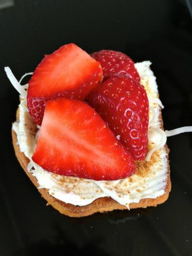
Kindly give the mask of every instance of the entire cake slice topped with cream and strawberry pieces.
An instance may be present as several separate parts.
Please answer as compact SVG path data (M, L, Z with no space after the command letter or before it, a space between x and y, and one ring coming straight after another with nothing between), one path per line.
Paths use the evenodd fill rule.
M66 67L64 75L62 65ZM75 44L68 44L45 56L27 85L22 86L5 68L20 92L17 118L12 124L15 155L47 205L64 215L83 217L157 206L168 199L169 149L161 115L163 105L150 65L149 61L134 63L123 53L110 50L85 55ZM130 89L126 91L131 97L127 105L121 95L124 84L126 90ZM44 93L41 87L50 90ZM60 91L55 91L57 87ZM105 87L109 91L104 91ZM117 104L116 94L104 97L114 88L121 95L122 104ZM107 110L108 102L108 107L114 104L114 113L123 111L126 117L119 120L118 126L113 125L113 120L117 124L121 113L110 117L113 112ZM134 119L128 110L135 113ZM124 122L127 130L118 130Z

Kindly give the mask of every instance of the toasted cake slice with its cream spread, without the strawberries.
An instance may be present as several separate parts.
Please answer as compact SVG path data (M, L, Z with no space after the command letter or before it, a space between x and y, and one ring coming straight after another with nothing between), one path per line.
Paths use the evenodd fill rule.
M26 101L21 98L17 121L12 126L15 155L41 195L60 213L83 217L96 212L146 208L168 199L171 190L168 147L161 146L163 122L156 78L149 68L151 62L136 63L140 83L145 87L149 112L148 161L136 161L131 177L117 181L94 181L47 172L31 161L36 147L38 128L31 120ZM158 146L159 145L159 146ZM155 152L151 149L155 149ZM152 154L152 156L151 156ZM150 160L150 161L149 161Z

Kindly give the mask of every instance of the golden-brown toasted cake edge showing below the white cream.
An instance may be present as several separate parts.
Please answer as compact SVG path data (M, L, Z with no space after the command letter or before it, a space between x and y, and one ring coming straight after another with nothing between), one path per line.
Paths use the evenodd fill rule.
M17 111L17 120L18 119L19 119L19 111ZM161 123L162 123L162 117L161 117ZM30 178L30 180L38 189L39 184L37 183L36 177L34 177L30 172L27 171L27 165L28 165L29 159L24 155L23 152L20 151L20 146L17 143L17 135L14 132L14 130L12 130L12 143L15 149L15 155L17 156L17 159L20 162L21 167L24 169L27 176ZM166 150L168 153L169 149L167 145L166 145ZM111 212L113 210L127 209L126 206L123 206L122 204L117 203L117 201L111 199L111 197L101 197L99 199L95 199L92 203L86 206L75 206L73 204L64 203L63 201L60 201L53 196L50 196L46 188L40 188L38 190L41 193L41 196L47 201L47 204L52 205L60 213L70 217L84 217L84 216L92 215L96 212L103 213L103 212ZM164 201L168 199L170 191L171 191L171 180L170 180L170 170L169 170L169 164L168 164L167 186L165 188L165 193L162 194L162 196L157 197L156 199L141 199L139 203L130 203L129 208L136 209L136 208L146 208L149 206L157 206L158 204L164 203Z

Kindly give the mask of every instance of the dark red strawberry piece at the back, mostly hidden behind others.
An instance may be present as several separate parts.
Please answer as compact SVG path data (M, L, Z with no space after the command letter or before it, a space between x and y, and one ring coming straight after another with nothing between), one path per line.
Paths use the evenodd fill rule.
M92 53L91 56L101 63L104 79L114 75L129 76L140 82L140 76L137 72L133 60L121 52L114 50L100 50Z

